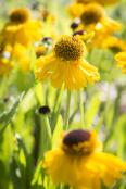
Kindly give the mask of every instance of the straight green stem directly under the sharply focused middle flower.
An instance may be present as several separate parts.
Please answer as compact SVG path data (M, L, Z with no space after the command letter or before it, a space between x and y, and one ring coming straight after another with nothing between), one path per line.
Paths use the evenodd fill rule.
M65 130L67 130L67 128L68 128L70 102L71 102L71 91L67 90L66 113L65 113L65 125L64 125L64 129L65 129Z

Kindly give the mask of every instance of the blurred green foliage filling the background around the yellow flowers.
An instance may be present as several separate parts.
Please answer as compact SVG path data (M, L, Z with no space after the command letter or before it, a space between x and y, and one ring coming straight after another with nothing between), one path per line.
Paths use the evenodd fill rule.
M55 37L73 34L70 27L73 20L68 17L65 7L68 2L71 0L39 0L39 8L33 10L35 18L42 21L41 10L50 13L42 25L45 37L52 35L53 25ZM16 3L14 0L1 0L0 27L8 22L11 8L26 5L32 9L33 3L30 0L17 0ZM126 0L105 7L106 14L124 25L124 30L113 35L126 41L125 9ZM37 58L34 47L40 45L41 41L32 42L29 73L22 73L18 62L14 61L12 73L0 78L0 189L73 189L63 184L55 186L42 167L46 152L58 147L64 130L66 90L64 86L55 89L49 80L41 84L35 78ZM47 43L45 46L48 55L52 49ZM68 129L93 129L103 142L103 151L126 161L126 76L116 67L114 55L111 51L97 48L87 52L86 60L98 67L101 80L84 88L84 127L79 92L72 91ZM12 99L5 102L5 97ZM50 108L50 114L39 113L39 108L43 105ZM108 188L101 185L101 189ZM126 179L117 180L110 189L126 189Z

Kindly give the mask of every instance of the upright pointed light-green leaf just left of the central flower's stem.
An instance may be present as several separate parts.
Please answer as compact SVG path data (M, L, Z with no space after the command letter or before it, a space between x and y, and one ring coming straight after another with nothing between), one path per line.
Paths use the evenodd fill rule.
M55 147L62 130L63 130L63 121L62 121L62 116L59 115L59 118L53 131L53 136L52 136L52 148Z

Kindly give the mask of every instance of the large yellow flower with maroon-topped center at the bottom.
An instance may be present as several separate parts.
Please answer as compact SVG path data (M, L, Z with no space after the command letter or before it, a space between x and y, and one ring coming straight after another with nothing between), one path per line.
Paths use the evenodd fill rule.
M42 167L55 185L101 189L101 180L111 187L124 177L126 163L102 152L102 143L94 131L80 129L63 134L58 149L46 153Z

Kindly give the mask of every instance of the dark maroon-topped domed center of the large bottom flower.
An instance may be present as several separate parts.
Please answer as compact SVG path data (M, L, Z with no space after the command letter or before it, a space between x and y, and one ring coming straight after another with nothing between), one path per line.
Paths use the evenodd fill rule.
M62 149L75 154L90 154L96 149L96 136L88 130L73 130L63 138Z

